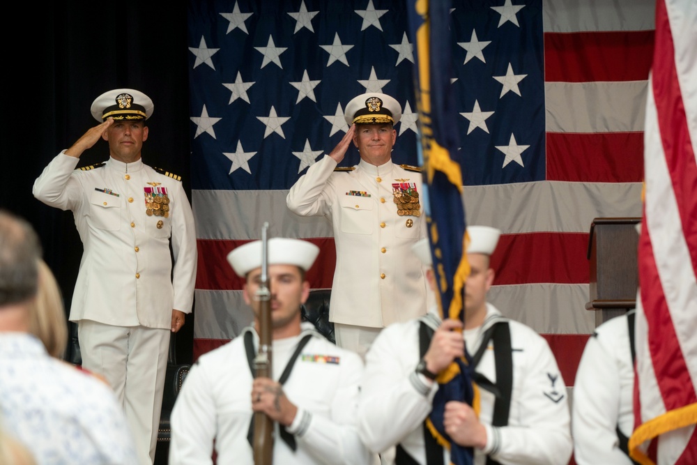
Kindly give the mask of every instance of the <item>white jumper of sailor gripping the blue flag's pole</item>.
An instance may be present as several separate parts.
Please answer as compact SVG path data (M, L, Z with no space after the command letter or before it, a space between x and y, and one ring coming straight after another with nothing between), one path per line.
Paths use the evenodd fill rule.
M434 321L433 314L423 317ZM487 304L484 324L473 333L474 353L484 332L503 317ZM426 464L423 422L431 411L438 383L416 374L419 362L421 319L397 323L382 330L366 357L359 402L359 432L375 451L401 443L411 457ZM491 427L494 396L480 389L480 420L487 429L487 446L475 450L475 464L486 463L485 454L501 464L567 465L572 454L566 388L546 340L528 326L508 320L513 351L513 388L505 427ZM438 326L439 321L431 323ZM470 330L468 330L470 333ZM476 371L496 383L493 342ZM445 463L449 452L444 448Z

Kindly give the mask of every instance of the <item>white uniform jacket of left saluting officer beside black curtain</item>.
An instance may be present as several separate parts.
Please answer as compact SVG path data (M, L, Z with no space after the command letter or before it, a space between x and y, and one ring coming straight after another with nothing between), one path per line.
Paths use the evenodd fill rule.
M84 170L75 169L78 161L59 153L33 186L43 203L72 211L82 239L70 321L171 328L172 309L191 312L197 266L194 219L181 181L142 160L127 165L109 158ZM146 214L146 189L167 193L168 218Z

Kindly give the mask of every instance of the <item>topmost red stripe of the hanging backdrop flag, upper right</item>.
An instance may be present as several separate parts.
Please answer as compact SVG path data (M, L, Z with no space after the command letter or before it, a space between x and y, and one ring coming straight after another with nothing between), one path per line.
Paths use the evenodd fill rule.
M546 82L648 79L654 31L544 34Z

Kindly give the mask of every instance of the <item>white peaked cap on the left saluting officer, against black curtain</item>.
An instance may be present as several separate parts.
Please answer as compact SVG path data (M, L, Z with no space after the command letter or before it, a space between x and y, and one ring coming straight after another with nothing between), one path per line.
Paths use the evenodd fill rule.
M114 89L102 93L92 102L90 112L97 121L116 120L139 121L153 114L153 100L135 89Z

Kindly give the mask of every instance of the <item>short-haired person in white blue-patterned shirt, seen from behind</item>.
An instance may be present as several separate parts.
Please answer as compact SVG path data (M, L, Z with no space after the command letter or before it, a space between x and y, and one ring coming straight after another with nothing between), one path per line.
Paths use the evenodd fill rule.
M0 211L0 418L38 465L132 465L135 445L114 392L47 353L31 334L41 247L31 225ZM63 321L65 324L65 321Z

